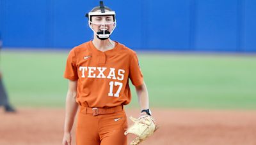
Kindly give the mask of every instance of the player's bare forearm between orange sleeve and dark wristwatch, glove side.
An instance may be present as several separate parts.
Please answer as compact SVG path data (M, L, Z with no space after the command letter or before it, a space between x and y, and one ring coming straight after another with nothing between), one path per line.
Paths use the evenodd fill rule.
M139 99L140 109L149 109L148 90L145 82L140 86L135 86L135 88Z

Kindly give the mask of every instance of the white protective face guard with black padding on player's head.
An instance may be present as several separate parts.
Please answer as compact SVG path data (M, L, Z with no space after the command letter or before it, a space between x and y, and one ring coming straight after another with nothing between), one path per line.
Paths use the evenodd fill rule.
M107 16L107 15L113 16L114 22L111 22L111 23L102 23L102 24L92 22L92 17L93 17L93 16ZM87 13L87 14L86 14L86 17L89 18L89 20L88 20L89 25L90 25L90 24L103 25L103 34L100 34L100 32L95 32L95 31L92 29L91 25L90 25L90 29L92 29L92 31L95 32L95 34L97 34L97 37L98 37L99 39L102 39L102 40L108 39L109 36L112 34L112 32L115 30L115 27L116 27L116 18L115 18L115 16L116 16L115 11L105 11L105 7L104 7L102 1L100 1L100 11L90 12L90 13ZM113 30L112 30L111 32L108 32L108 31L106 31L106 29L105 29L106 25L109 25L109 24L114 24L114 25L115 25L115 27L113 28ZM101 32L101 33L102 33L102 32Z

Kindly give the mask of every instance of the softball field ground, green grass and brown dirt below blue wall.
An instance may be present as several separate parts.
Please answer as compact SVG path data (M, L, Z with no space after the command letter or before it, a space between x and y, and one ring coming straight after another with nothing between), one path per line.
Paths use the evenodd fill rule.
M4 84L18 110L6 114L0 109L1 145L61 144L67 54L1 52ZM141 144L256 144L255 55L138 54L160 127ZM138 99L131 88L127 117L138 117Z

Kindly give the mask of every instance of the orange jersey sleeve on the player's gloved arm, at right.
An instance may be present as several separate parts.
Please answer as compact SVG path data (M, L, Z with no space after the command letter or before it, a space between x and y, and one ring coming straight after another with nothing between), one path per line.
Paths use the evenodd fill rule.
M143 84L143 74L139 66L139 60L136 53L132 53L129 65L129 78L134 86Z

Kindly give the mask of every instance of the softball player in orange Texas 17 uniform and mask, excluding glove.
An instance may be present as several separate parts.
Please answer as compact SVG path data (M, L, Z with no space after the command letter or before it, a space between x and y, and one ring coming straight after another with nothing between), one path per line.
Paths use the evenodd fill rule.
M138 58L134 51L109 38L116 27L115 11L100 1L100 6L86 17L94 38L74 47L67 58L63 144L71 144L70 131L77 109L76 144L127 144L124 105L131 102L129 79L136 87L141 114L150 115Z

